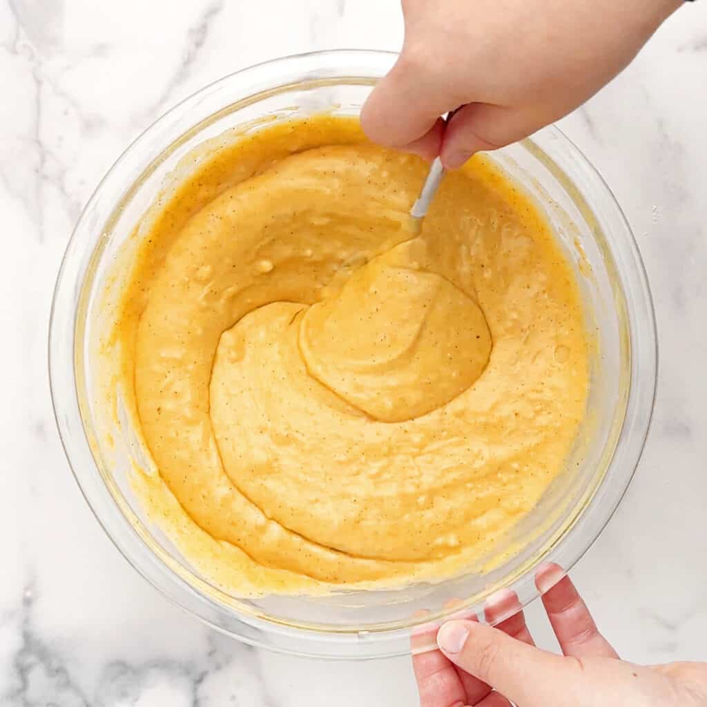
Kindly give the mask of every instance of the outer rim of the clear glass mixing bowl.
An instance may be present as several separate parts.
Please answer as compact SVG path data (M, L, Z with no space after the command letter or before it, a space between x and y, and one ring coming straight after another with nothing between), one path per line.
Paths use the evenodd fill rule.
M150 562L148 558L146 559L144 551L138 551L136 548L135 544L141 543L142 540L138 537L134 528L131 527L132 534L122 532L116 527L119 518L117 518L115 513L107 517L106 513L104 513L107 508L106 496L110 496L110 502L115 503L115 501L110 495L110 491L103 484L102 479L100 479L93 457L90 457L90 448L83 430L83 423L80 426L81 431L84 432L83 439L81 439L80 435L77 438L71 426L72 424L76 426L77 419L79 422L81 421L73 354L74 330L76 328L76 298L78 297L78 291L81 290L83 277L88 269L90 255L98 243L98 238L100 238L100 230L103 227L103 223L107 221L110 210L115 206L115 198L110 204L111 209L109 209L108 213L102 214L101 218L103 220L100 221L98 228L96 228L95 224L88 222L90 221L90 216L97 208L99 212L103 208L103 204L100 204L100 202L106 192L119 187L116 193L122 193L132 186L130 183L126 183L122 176L122 173L128 170L127 163L130 156L146 149L153 135L160 131L165 132L169 129L170 124L182 124L192 112L199 110L200 105L208 103L210 98L218 97L219 92L223 88L233 88L232 84L235 84L240 98L243 99L256 93L283 88L284 86L317 78L341 78L342 80L346 78L375 79L385 74L387 68L390 67L396 58L397 54L394 52L361 49L334 49L325 52L310 52L291 57L280 57L225 76L175 105L175 107L153 122L128 146L108 170L98 187L96 187L69 239L57 276L57 284L52 300L49 324L49 382L54 416L66 457L69 460L69 466L79 489L81 489L99 524L136 571L143 575L165 597L168 597L187 613L199 617L199 619L214 629L230 636L235 636L241 641L269 648L270 650L280 650L284 653L296 653L318 658L348 659L402 655L409 652L409 633L407 631L414 626L414 623L406 626L404 630L380 631L378 634L374 632L373 635L367 632L366 637L374 640L368 640L363 651L355 650L355 644L360 638L356 633L346 631L322 633L309 629L280 626L275 622L269 622L269 626L259 625L262 636L257 638L251 635L252 621L243 623L243 631L239 630L238 617L232 617L234 620L228 621L227 626L223 622L218 621L216 619L218 613L214 614L214 611L211 610L214 607L204 605L204 602L213 604L212 600L199 595L194 588L177 577L175 573L172 573L168 567L158 567L156 565L158 559L155 556L153 556L153 562ZM257 88L257 90L253 90L254 88ZM221 105L221 109L231 105L231 103ZM190 125L198 124L206 117L200 114L199 116ZM624 288L624 292L628 290L631 293L631 296L626 296L631 352L629 399L626 406L624 426L622 426L617 442L617 449L614 451L614 458L609 464L607 473L597 487L594 498L590 500L580 518L571 526L568 532L563 534L563 537L561 537L547 557L549 561L556 561L566 571L569 571L591 547L604 526L612 518L614 511L621 502L621 498L623 498L626 489L629 487L640 460L645 439L648 436L648 428L655 401L658 373L658 338L655 328L653 301L645 268L638 252L638 246L631 233L631 228L614 195L597 170L556 127L544 129L541 134L529 139L529 143L534 144L536 148L539 146L543 150L545 146L541 145L541 143L547 142L542 139L543 134L551 136L551 141L559 145L559 148L554 151L555 153L559 151L559 156L571 160L573 169L580 174L580 185L590 185L592 189L597 189L602 193L604 221L611 221L612 225L612 238L607 238L607 240L610 240L612 256L617 260L620 284ZM544 154L547 155L547 150L544 151ZM561 168L559 170L562 171ZM576 180L575 183L577 183ZM70 311L66 310L67 308L64 306L66 303L71 303ZM62 349L69 342L71 342L71 355L67 355L67 352ZM637 354L640 354L640 361ZM66 409L69 409L69 414L71 415L69 418L64 414ZM629 420L632 422L631 427L635 428L631 438L627 438L625 435L626 422ZM622 456L629 457L630 463L616 469L614 466L620 449ZM85 461L89 461L89 463L84 464L83 462ZM610 488L607 486L609 481L611 482ZM601 508L597 504L599 489L604 491ZM101 506L103 506L103 510L101 510ZM115 510L119 513L117 506L115 506ZM122 516L122 520L125 523L129 523L124 516ZM581 532L582 527L590 525L593 528L593 532L590 534ZM537 589L534 588L532 583L532 577L528 575L523 575L509 588L518 591L524 605L538 595ZM231 610L233 611L233 609ZM458 610L458 607L455 610ZM269 640L268 631L280 634L282 638L287 636L288 644L283 646L278 642L272 642ZM354 650L352 650L352 643L354 644Z

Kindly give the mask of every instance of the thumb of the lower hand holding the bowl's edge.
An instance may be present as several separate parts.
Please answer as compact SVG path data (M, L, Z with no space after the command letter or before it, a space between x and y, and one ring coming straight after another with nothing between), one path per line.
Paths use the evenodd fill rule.
M519 707L564 706L581 678L559 655L473 621L444 624L437 643L455 665Z

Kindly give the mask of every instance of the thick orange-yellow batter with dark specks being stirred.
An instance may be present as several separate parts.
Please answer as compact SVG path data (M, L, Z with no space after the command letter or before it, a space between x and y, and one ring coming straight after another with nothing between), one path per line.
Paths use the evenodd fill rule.
M142 229L117 337L151 515L238 595L440 579L563 469L571 267L489 161L445 177L312 117L204 153ZM156 214L156 215L155 215Z

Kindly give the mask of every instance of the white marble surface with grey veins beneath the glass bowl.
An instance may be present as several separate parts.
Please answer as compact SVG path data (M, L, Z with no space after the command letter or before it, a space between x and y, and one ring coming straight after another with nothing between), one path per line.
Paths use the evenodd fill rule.
M81 206L119 152L205 83L282 54L399 47L397 0L0 0L0 704L416 703L409 662L246 648L119 556L54 428L49 303ZM636 231L660 391L636 480L574 575L619 651L706 659L707 0L566 119ZM551 645L537 607L531 622Z

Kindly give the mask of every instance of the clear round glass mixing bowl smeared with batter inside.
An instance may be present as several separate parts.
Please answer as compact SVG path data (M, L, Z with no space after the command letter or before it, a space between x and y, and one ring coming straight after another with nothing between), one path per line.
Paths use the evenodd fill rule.
M454 611L477 611L496 590L521 604L537 596L533 570L570 568L617 508L641 455L655 394L655 320L636 243L600 175L559 130L491 153L544 209L576 270L588 325L596 327L588 414L566 471L504 542L495 566L437 584L328 597L243 600L211 585L153 525L128 481L136 436L126 420L107 434L95 395L90 341L106 312L115 259L185 153L235 126L320 112L358 115L396 55L334 51L276 59L187 98L139 136L98 185L59 271L49 334L54 411L88 504L130 563L187 612L242 641L325 658L409 652L409 633ZM110 312L109 312L110 314ZM105 324L105 322L104 322ZM118 411L120 412L120 411ZM112 439L111 439L112 438ZM418 614L419 616L419 614Z

